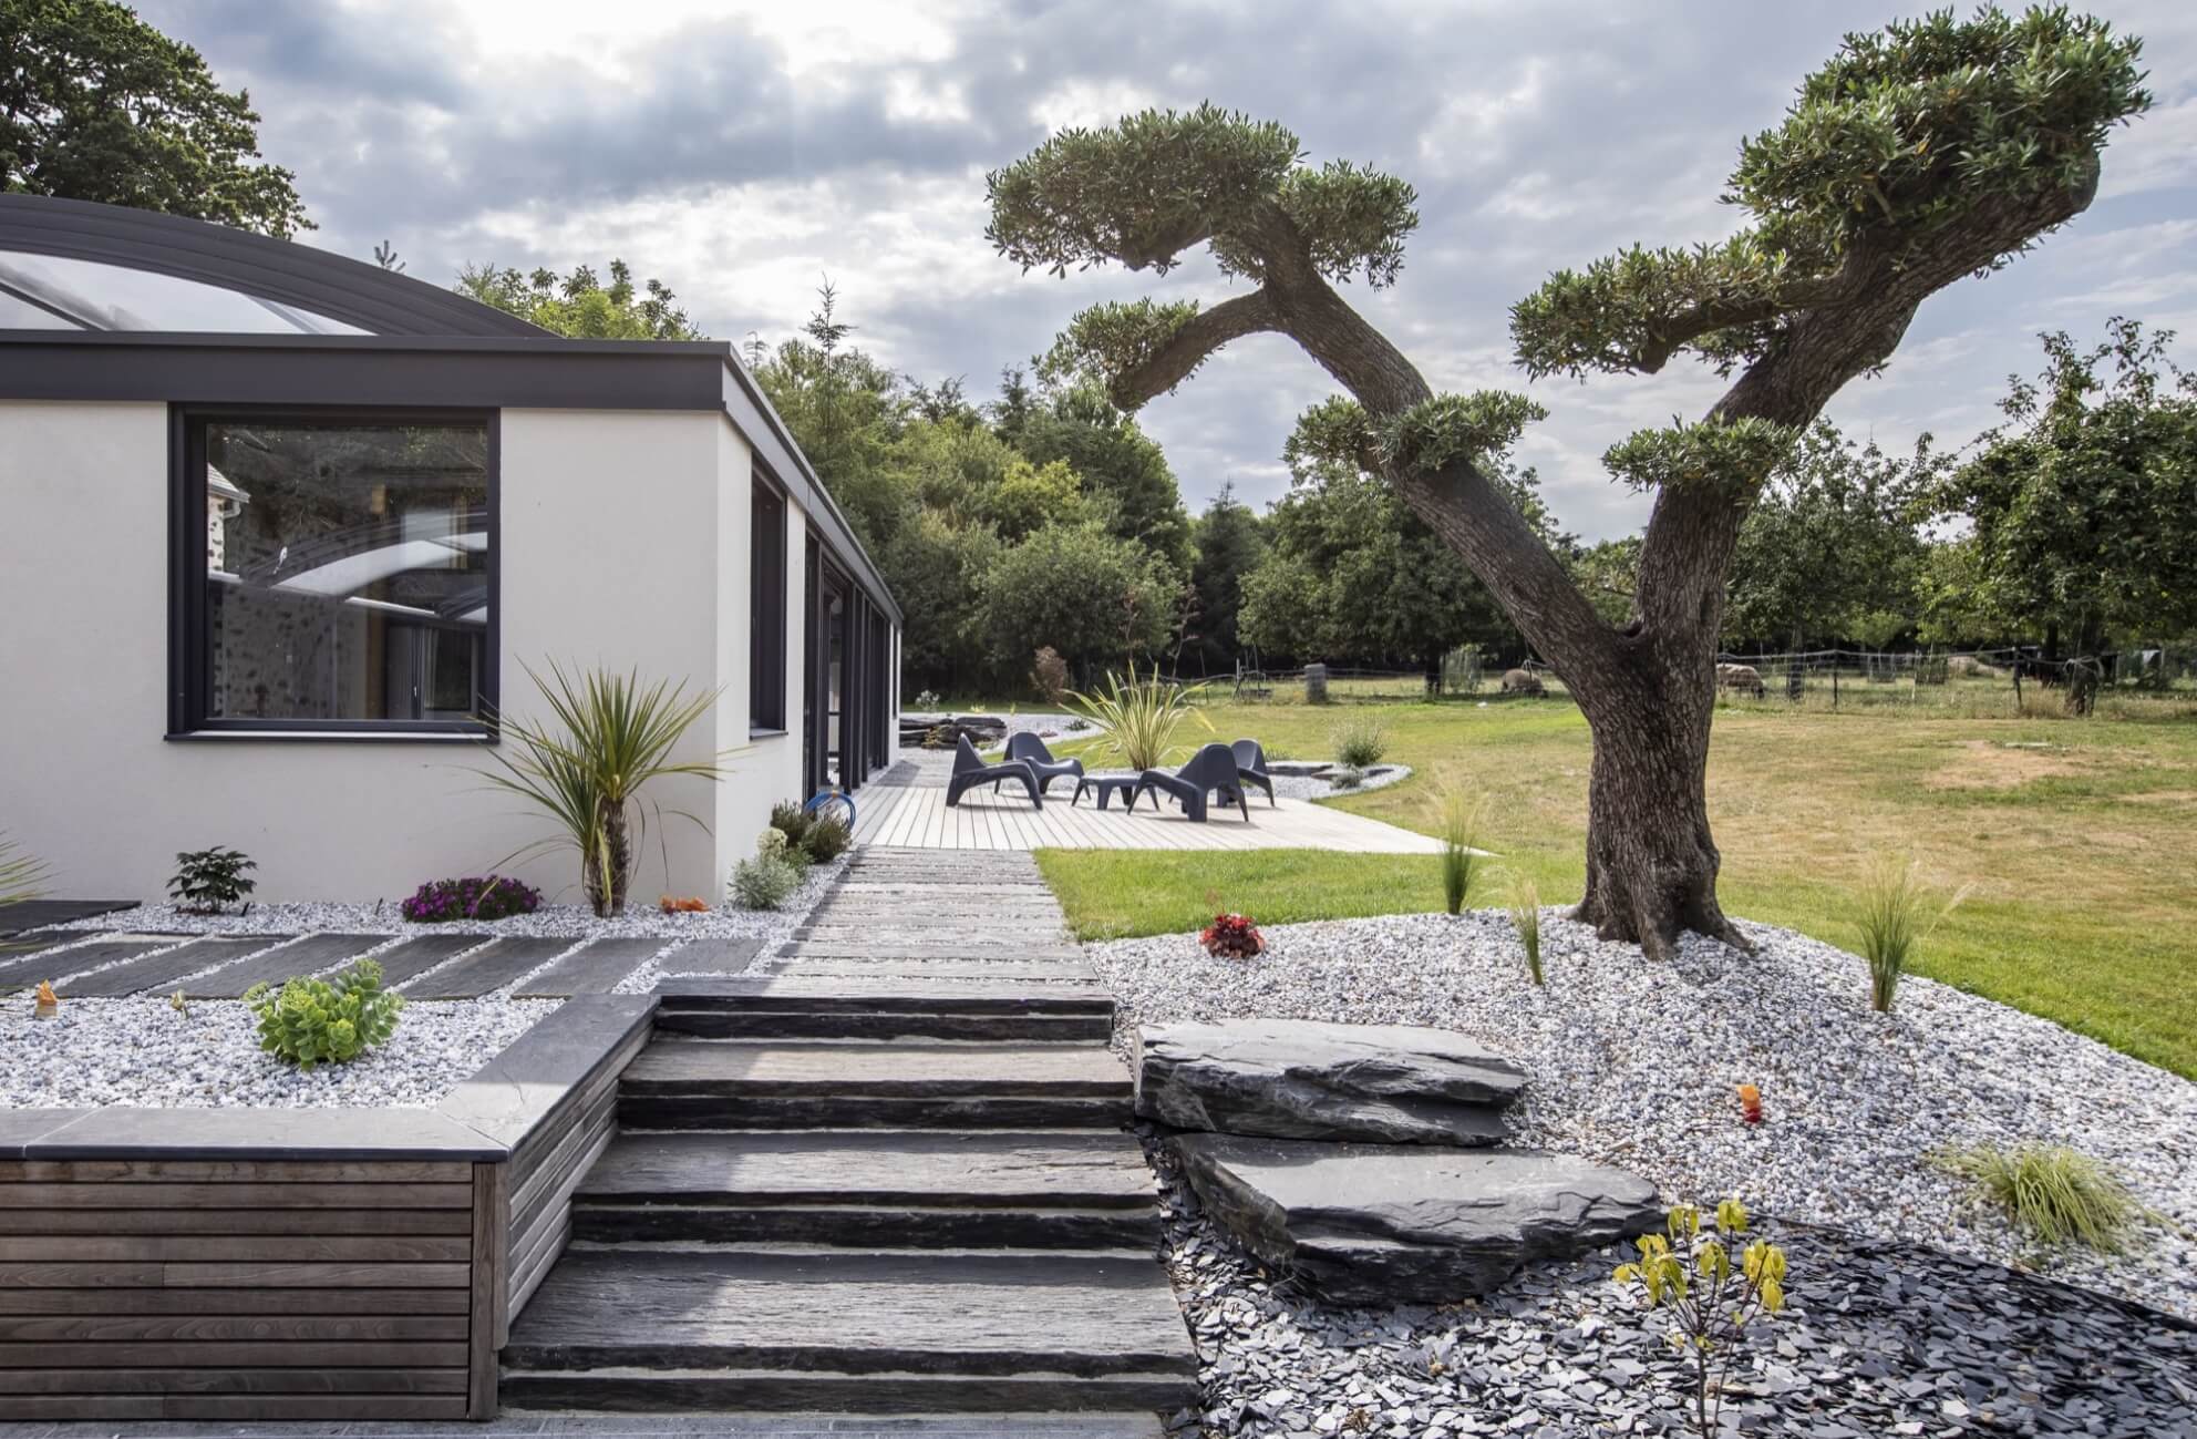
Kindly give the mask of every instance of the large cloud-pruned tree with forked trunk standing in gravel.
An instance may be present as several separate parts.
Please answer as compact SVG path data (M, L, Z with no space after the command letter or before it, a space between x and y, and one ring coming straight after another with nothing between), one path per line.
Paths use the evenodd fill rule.
M1512 312L1534 376L1659 371L1689 352L1731 389L1696 424L1641 431L1604 464L1654 492L1632 617L1608 624L1487 475L1529 417L1512 395L1435 395L1336 290L1395 283L1413 189L1294 134L1202 105L1066 130L989 176L989 237L1024 268L1164 272L1206 246L1248 286L1195 301L1103 303L1070 321L1057 367L1123 409L1171 391L1248 334L1294 338L1362 413L1367 468L1457 549L1562 674L1595 736L1586 894L1606 938L1668 956L1683 929L1747 945L1716 899L1707 817L1725 571L1749 501L1854 376L1883 367L1933 292L2026 250L2096 196L2105 136L2149 103L2138 42L2070 11L1979 11L1850 35L1775 130L1749 138L1725 244L1632 248L1562 270Z

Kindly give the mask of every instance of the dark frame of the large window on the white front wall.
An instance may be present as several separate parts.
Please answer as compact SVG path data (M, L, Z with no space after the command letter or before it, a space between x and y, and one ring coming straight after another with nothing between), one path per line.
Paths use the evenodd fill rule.
M215 718L207 714L207 424L479 424L488 435L488 624L481 718ZM167 734L169 740L497 743L503 696L503 426L479 406L213 404L167 406Z

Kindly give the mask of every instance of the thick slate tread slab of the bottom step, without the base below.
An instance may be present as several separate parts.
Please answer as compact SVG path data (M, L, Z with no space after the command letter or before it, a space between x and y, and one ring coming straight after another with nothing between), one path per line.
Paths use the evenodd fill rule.
M901 1371L1193 1371L1147 1254L567 1252L505 1369L811 1362Z

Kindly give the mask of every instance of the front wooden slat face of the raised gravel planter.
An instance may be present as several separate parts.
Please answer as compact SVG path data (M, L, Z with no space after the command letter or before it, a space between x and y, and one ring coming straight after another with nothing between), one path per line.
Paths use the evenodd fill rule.
M0 1421L488 1417L505 1213L488 1162L0 1160Z

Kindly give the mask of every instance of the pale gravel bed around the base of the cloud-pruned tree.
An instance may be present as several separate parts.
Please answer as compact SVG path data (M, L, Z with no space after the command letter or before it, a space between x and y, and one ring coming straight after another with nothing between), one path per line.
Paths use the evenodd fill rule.
M1410 914L1265 929L1215 960L1195 936L1090 947L1138 1022L1274 1015L1432 1024L1534 1077L1516 1140L1621 1164L1670 1200L1744 1197L1784 1219L2050 1268L2197 1318L2197 1083L2048 1019L1909 978L1892 1015L1863 962L1747 925L1755 956L1687 938L1676 960L1549 912L1547 989L1509 918ZM1766 1123L1740 1120L1736 1087ZM1931 1164L1947 1147L2063 1142L2105 1160L2164 1219L2127 1257L2041 1257Z

